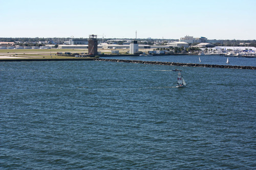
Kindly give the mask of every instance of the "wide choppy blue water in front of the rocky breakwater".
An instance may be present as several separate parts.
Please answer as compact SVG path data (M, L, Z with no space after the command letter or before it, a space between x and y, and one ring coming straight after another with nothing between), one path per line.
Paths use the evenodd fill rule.
M0 62L1 169L256 168L255 70ZM182 69L187 88L174 88Z

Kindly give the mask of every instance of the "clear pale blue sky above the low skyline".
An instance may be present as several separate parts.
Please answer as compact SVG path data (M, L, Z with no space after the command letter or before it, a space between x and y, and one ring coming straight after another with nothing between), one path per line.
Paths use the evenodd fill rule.
M0 0L0 37L256 39L256 0Z

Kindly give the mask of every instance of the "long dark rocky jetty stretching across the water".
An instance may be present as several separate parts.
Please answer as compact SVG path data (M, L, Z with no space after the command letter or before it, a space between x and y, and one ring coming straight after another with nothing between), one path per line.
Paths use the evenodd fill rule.
M175 62L140 61L140 60L119 60L119 59L102 59L102 58L98 58L98 59L95 59L95 60L96 61L125 62L125 63L140 63L140 64L155 64L155 65L188 66L188 67L256 69L255 66L238 66L238 65L194 64L194 63L175 63Z

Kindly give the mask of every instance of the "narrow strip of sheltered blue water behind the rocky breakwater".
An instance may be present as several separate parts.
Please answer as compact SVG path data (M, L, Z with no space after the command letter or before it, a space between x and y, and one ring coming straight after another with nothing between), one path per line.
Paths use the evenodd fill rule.
M199 57L201 63L199 62ZM142 61L161 61L161 62L177 62L177 63L196 63L196 64L217 64L217 65L239 65L239 66L256 66L256 58L247 57L224 57L224 56L124 56L124 57L101 57L107 59L123 59L123 60L142 60ZM229 64L226 63L227 58Z

